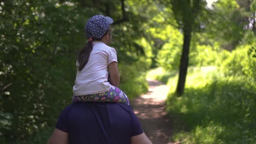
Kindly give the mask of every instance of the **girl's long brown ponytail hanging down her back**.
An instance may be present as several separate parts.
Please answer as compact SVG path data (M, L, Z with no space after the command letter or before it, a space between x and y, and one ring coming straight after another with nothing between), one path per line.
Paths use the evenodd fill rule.
M88 41L81 51L77 54L77 61L79 62L78 70L81 71L89 60L92 52L92 41Z

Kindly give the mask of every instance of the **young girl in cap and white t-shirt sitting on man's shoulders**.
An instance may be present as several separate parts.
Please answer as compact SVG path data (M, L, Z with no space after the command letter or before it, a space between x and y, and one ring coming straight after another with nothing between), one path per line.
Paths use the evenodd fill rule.
M86 23L85 33L89 40L77 55L72 102L108 101L129 105L128 97L118 88L116 51L108 46L111 41L111 23L112 18L102 15L93 16Z

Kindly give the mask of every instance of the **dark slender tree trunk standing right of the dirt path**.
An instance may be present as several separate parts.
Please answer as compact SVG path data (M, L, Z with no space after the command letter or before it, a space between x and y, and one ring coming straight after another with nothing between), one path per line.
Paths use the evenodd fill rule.
M188 26L188 28L184 30L184 41L183 41L183 49L182 49L182 55L181 55L180 72L179 72L178 85L176 89L177 96L181 96L184 92L186 76L187 76L190 39L191 39L191 26Z

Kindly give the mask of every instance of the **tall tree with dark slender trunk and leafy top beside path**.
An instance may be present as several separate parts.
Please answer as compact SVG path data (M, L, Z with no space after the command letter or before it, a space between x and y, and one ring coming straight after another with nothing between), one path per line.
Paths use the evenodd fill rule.
M164 1L164 3L167 4L167 7L171 7L177 26L182 30L184 35L179 79L176 89L177 95L180 96L184 92L184 86L186 82L191 34L197 29L197 27L200 27L197 18L205 6L205 1L168 0Z

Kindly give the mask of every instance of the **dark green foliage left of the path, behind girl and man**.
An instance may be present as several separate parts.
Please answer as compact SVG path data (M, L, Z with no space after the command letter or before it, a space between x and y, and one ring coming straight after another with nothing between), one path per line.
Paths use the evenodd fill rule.
M92 7L95 3L100 7ZM138 39L144 35L146 26L141 25L148 17L138 14L143 7L133 8L146 1L127 0L124 7L120 0L95 3L0 2L1 144L47 141L60 111L71 103L76 53L86 42L83 27L95 14L111 16L116 22L112 46L118 52L120 87L131 99L147 90L143 71L151 63L151 49L145 48L145 39L143 43ZM108 13L108 6L115 13Z

